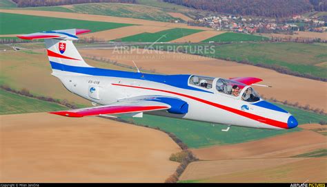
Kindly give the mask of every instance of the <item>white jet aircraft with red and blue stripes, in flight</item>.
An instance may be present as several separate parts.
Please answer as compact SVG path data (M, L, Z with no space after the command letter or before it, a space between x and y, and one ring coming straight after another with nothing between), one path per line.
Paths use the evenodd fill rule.
M72 41L90 30L70 29L18 36L44 39L52 75L73 94L100 104L97 107L54 111L83 117L143 113L258 129L292 129L297 120L280 107L261 99L251 85L259 78L213 78L198 75L158 75L100 69L88 65Z

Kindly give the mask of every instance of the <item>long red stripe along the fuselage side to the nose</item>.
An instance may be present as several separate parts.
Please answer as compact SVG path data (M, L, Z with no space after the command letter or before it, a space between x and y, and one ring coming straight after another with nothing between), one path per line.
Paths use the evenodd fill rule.
M178 95L178 96L183 96L183 97L186 97L186 98L190 98L192 100L197 100L199 102L203 102L203 103L209 104L209 105L211 105L213 107L217 107L219 109L224 109L226 111L230 111L232 113L236 113L238 115L244 116L246 118L250 118L252 120L256 120L258 122L262 122L262 123L269 124L269 125L272 125L272 126L277 126L279 128L283 128L283 129L288 129L288 125L285 122L279 122L277 120L272 120L272 119L269 119L269 118L264 118L264 117L262 117L260 115L255 115L255 114L252 114L252 113L247 113L245 111L240 111L240 110L237 110L237 109L233 109L231 107L226 107L224 105L217 104L215 102L210 102L208 100L203 100L201 98L196 98L196 97L193 97L193 96L188 96L186 94L179 94L179 93L174 92L174 91L166 91L166 90L163 90L163 89L153 89L153 88L147 88L147 87L135 87L135 86L130 86L130 85L119 85L119 84L112 84L112 85L121 86L121 87L134 87L134 88L139 88L139 89L150 89L150 90L154 90L154 91L163 91L163 92L166 92L166 93L169 93L169 94L175 94L175 95Z

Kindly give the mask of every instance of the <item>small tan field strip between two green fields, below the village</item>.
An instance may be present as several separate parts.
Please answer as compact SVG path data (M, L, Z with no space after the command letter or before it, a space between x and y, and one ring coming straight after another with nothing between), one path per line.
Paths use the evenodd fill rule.
M197 32L195 34L190 34L188 36L184 36L181 37L179 39L176 39L174 41L170 41L170 42L201 42L204 41L206 39L210 39L213 36L219 35L219 34L223 34L224 32L219 32L219 31L214 31L214 30L207 30L207 31L203 31L203 32Z

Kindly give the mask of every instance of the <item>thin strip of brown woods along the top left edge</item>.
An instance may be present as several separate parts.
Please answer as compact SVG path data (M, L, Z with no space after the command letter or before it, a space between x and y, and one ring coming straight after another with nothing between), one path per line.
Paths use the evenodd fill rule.
M80 3L136 3L136 0L12 0L18 7L71 5Z

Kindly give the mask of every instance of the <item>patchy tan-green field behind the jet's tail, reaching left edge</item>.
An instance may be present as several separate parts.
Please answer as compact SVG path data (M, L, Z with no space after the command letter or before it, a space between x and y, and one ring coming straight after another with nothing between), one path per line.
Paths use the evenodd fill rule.
M51 76L52 70L43 43L23 43L19 47L30 48L34 50L14 51L8 50L0 55L0 85L8 85L13 89L28 89L31 94L36 96L50 96L60 100L69 100L76 104L82 104L84 107L90 105L90 102L71 94L67 91L61 82ZM133 71L132 69L99 63L86 59L93 66ZM39 80L42 78L43 83L51 86L40 86Z

